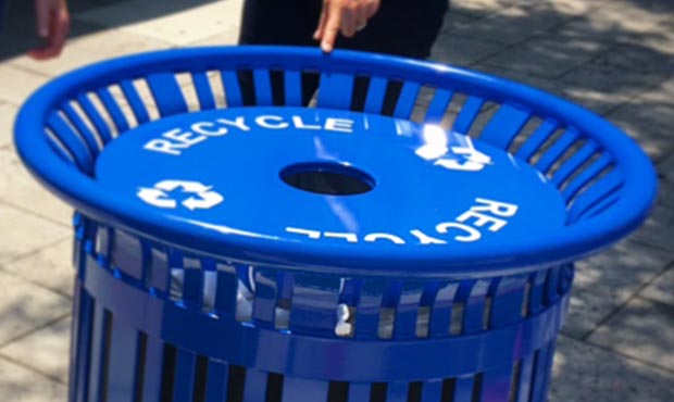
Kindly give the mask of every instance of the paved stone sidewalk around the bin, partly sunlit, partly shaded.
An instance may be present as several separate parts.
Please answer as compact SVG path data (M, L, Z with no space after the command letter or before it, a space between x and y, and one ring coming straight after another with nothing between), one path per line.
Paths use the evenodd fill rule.
M46 63L22 55L34 43L33 23L22 7L11 10L0 38L2 401L66 400L73 279L71 211L21 166L11 143L17 108L32 90L83 64L234 43L240 7L241 0L73 1L73 38L62 58ZM433 59L572 99L622 126L652 156L661 183L652 217L578 264L550 401L674 401L674 2L454 0Z

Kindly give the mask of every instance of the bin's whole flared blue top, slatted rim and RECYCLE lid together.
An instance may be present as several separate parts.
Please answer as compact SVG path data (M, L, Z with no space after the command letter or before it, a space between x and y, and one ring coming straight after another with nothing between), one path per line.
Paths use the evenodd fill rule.
M319 78L315 108L300 108L307 74ZM242 108L241 76L254 108ZM359 83L367 114L349 111ZM382 115L391 86L396 118ZM449 133L410 121L424 102L426 123L457 113ZM349 51L217 47L99 63L32 96L15 139L43 185L105 225L198 255L340 275L566 263L638 227L657 192L647 155L587 110L476 72Z

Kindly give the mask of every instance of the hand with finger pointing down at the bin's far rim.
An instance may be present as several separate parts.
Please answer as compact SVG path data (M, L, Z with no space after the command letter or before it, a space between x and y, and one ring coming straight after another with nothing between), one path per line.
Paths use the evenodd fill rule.
M365 28L367 21L379 10L380 0L323 0L321 21L313 38L321 41L324 52L335 49L341 32L347 38Z

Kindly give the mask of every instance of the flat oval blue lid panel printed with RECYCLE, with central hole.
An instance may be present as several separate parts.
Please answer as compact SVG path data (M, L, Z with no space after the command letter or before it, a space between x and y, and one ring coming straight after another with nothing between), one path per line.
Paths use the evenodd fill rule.
M557 188L499 149L437 125L336 110L167 117L112 141L96 177L170 219L383 257L391 247L442 244L450 255L538 237L566 216Z

